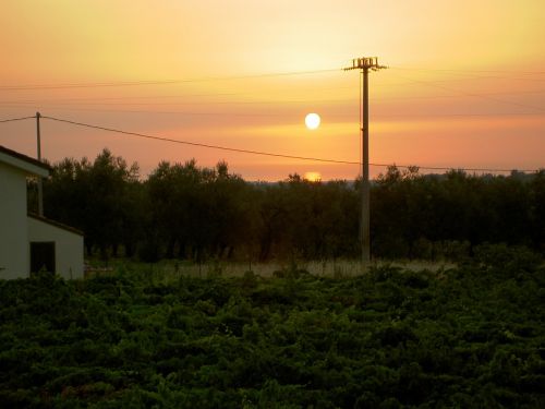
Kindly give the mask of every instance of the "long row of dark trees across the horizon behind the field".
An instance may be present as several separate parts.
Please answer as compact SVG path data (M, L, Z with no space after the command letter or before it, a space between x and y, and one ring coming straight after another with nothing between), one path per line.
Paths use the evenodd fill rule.
M87 255L181 258L358 257L360 184L290 175L249 182L220 161L137 164L104 149L52 164L46 217L81 229ZM29 188L34 196L33 187ZM31 207L33 206L31 201ZM372 255L459 258L482 243L545 250L545 170L422 175L389 167L371 188Z

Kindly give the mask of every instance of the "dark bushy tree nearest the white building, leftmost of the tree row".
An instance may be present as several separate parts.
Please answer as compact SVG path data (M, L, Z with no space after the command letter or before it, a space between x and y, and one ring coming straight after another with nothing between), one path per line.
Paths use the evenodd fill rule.
M116 254L128 234L137 230L134 202L128 196L137 183L137 165L129 167L107 148L93 164L66 158L53 165L44 187L45 213L81 229L88 255L96 245L106 257L108 248Z

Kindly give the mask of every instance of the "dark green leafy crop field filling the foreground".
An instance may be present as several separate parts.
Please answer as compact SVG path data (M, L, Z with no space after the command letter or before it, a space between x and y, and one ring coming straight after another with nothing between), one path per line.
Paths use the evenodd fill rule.
M0 281L2 408L543 408L545 269Z

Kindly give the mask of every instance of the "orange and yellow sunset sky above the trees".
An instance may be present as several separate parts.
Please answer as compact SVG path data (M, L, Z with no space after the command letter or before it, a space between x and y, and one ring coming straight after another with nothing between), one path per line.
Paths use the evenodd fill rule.
M360 161L370 74L372 164L545 167L543 0L3 0L0 120L55 117L288 156ZM322 125L307 130L317 112ZM353 179L358 165L144 140L41 120L43 156L226 160L246 180ZM33 120L0 145L36 155ZM384 171L372 166L371 173Z

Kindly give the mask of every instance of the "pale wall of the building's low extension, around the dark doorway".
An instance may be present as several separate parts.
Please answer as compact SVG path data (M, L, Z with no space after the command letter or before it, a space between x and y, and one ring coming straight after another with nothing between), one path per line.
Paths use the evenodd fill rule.
M83 278L83 236L34 217L28 217L27 220L28 241L25 245L27 260L31 258L31 242L53 241L56 273L65 279Z

